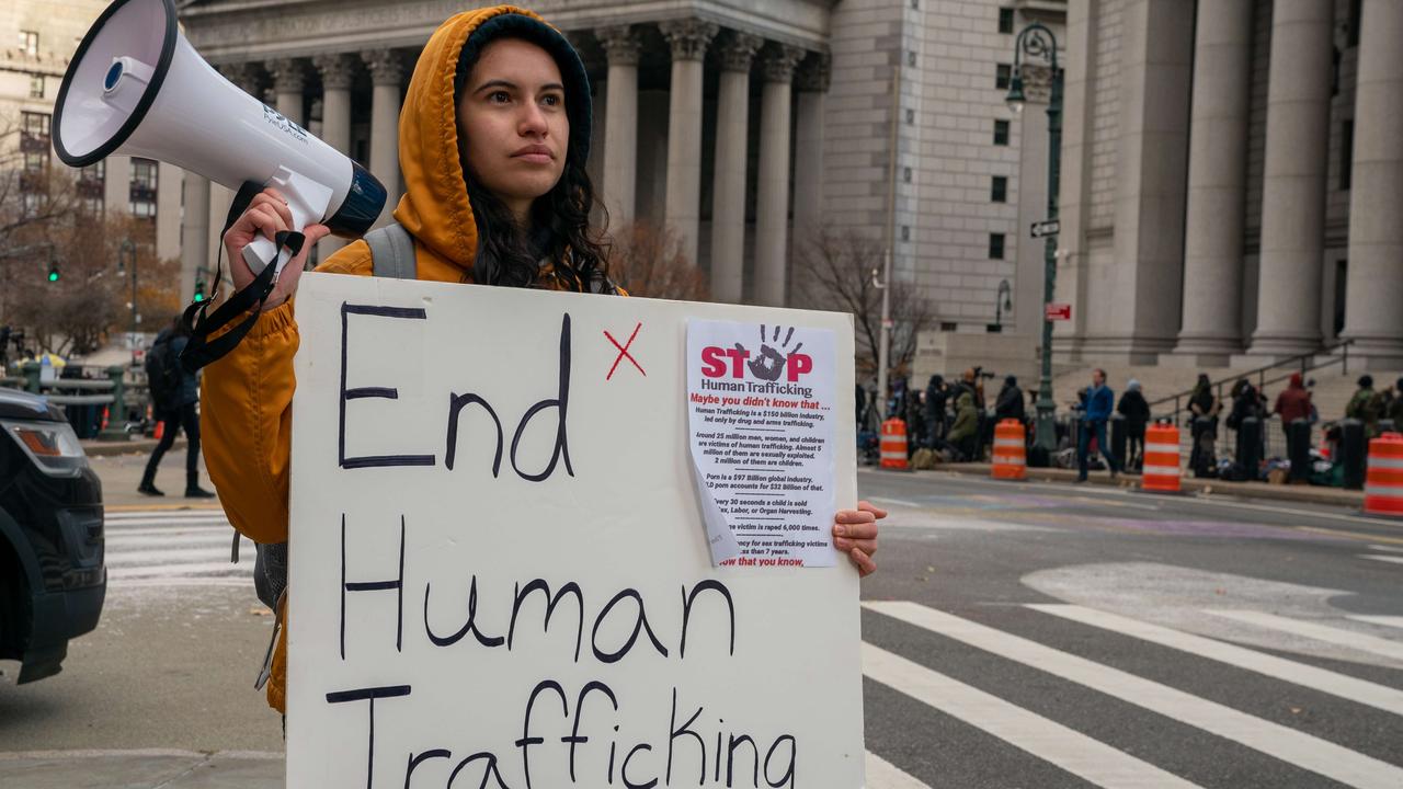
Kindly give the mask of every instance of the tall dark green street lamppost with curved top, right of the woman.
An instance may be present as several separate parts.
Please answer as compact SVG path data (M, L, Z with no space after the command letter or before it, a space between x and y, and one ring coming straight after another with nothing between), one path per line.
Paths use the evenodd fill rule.
M1052 400L1052 321L1047 306L1056 288L1056 192L1062 168L1062 72L1056 65L1056 37L1041 22L1023 28L1013 42L1013 79L1009 83L1009 110L1023 111L1024 59L1044 62L1051 69L1052 90L1048 97L1048 213L1042 230L1042 375L1038 379L1037 427L1034 446L1048 453L1056 451L1056 403Z

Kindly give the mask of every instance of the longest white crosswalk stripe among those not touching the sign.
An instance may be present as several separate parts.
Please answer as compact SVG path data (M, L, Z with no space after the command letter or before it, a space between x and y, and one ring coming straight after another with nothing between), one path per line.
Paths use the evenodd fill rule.
M1393 715L1403 715L1403 691L1389 688L1386 685L1357 679L1345 674L1337 674L1324 668L1316 668L1315 665L1306 665L1305 663L1285 660L1236 644L1195 636L1183 630L1162 628L1159 625L1150 625L1149 622L1141 622L1139 619L1131 619L1117 614L1083 608L1080 605L1038 604L1028 605L1027 608L1061 616L1063 619L1070 619L1073 622L1080 622L1083 625L1090 625L1093 628L1111 630L1113 633L1120 633L1122 636L1134 636L1145 642L1197 654L1198 657L1207 657L1208 660L1226 663L1228 665L1235 665L1247 671L1256 671L1257 674L1264 674L1273 679L1281 679L1284 682L1312 688L1333 696L1340 696L1341 699L1392 712Z

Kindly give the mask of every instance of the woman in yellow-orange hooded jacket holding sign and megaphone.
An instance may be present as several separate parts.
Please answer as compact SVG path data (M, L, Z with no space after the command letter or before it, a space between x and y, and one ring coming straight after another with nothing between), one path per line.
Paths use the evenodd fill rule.
M394 219L412 237L417 278L617 293L605 246L589 226L589 128L584 65L539 17L502 6L457 14L439 27L418 59L400 117L405 194ZM290 223L282 197L265 190L224 233L239 289L254 278L243 247L257 234L295 229ZM302 232L303 253L283 268L258 323L205 373L203 410L212 417L205 460L230 522L260 543L288 539L297 351L290 299L306 250L327 229ZM372 275L370 246L349 244L317 271ZM875 569L882 517L867 503L835 517L835 545L864 576ZM279 710L285 650L283 633L268 682L268 702Z

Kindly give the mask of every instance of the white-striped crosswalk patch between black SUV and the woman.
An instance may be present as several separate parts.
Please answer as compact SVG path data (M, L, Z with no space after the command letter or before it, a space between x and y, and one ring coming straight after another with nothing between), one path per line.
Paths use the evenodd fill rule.
M222 510L108 512L109 591L137 587L244 587L253 591L254 545L240 541Z

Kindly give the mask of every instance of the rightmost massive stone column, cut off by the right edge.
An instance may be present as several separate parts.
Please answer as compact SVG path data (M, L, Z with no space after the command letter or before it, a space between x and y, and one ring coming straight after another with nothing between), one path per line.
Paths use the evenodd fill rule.
M1403 3L1368 0L1360 35L1343 336L1371 369L1403 369ZM1352 361L1351 361L1352 364Z

